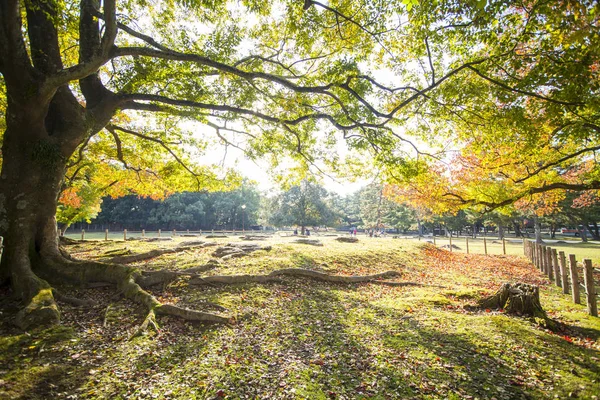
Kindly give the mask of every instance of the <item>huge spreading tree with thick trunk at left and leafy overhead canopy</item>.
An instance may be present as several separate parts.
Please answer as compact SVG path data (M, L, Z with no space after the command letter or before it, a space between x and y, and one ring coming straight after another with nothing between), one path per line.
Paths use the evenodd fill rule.
M443 136L442 127L454 127L444 125L445 119L460 124L473 113L491 114L498 102L490 99L503 93L517 111L531 99L525 117L542 115L550 121L548 129L554 124L565 126L560 131L565 135L595 132L597 17L586 14L585 2L569 1L573 18L563 24L555 3L0 2L1 92L6 94L0 102L6 117L0 182L6 247L0 278L9 279L26 304L17 322L27 327L57 321L48 279L65 278L114 283L146 305L150 317L162 312L211 318L162 307L139 286L134 268L73 261L61 252L58 195L65 172L91 145L104 144L102 162L132 171L138 182L154 177L202 189L220 175L194 166L186 154L206 148L208 131L251 158L267 156L275 175L282 161L289 165L286 157L299 171L353 166L336 153L343 138L398 179L418 176L427 164L423 152L416 152L417 160L407 159L414 146L399 134L399 125L430 141ZM566 35L572 39L569 47L563 38L573 28L583 39ZM541 49L541 58L529 57L529 47ZM569 118L561 117L565 107ZM429 114L437 118L433 131L425 129ZM201 125L180 131L179 119ZM468 136L471 125L460 132ZM149 156L140 158L143 154ZM556 161L560 158L542 164L542 171ZM597 182L593 176L591 183Z

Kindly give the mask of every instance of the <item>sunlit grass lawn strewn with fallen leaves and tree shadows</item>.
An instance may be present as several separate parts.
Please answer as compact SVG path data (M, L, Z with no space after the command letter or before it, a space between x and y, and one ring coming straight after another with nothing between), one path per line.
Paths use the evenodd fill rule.
M136 304L115 297L113 288L61 288L96 306L60 304L62 325L28 333L12 327L18 305L2 296L0 398L599 396L600 319L572 304L523 257L450 253L416 240L321 239L324 246L314 247L275 237L271 251L224 261L206 275L298 267L343 275L395 270L402 274L397 280L412 285L285 277L268 284L194 287L182 279L153 293L167 303L220 312L206 305L217 303L236 323L201 325L163 317L159 333L133 340L128 338L143 315ZM90 241L68 249L76 257L97 259L111 250L138 252L174 243ZM513 245L508 249L512 253ZM589 250L586 254L596 249ZM212 251L168 254L139 266L189 268L209 260ZM514 245L514 253L522 254L521 244ZM464 308L515 281L541 286L542 305L561 331L500 311Z

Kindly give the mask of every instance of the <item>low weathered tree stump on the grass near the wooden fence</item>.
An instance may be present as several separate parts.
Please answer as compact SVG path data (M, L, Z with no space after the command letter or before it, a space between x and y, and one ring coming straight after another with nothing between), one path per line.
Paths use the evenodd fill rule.
M504 309L508 314L532 317L543 320L548 325L549 319L540 303L540 291L536 285L527 283L505 283L493 296L478 302L481 308Z

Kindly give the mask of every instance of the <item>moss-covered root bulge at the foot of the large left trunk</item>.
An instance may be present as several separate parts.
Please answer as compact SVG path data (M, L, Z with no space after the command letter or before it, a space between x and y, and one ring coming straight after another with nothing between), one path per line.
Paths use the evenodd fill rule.
M52 288L43 279L32 277L36 282L33 296L27 306L21 309L15 317L15 325L23 330L58 324L60 311L54 301Z

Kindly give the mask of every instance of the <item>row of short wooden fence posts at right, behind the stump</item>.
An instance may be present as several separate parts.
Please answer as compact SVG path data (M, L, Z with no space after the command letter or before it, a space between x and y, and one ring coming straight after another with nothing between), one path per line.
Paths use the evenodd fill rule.
M594 267L592 260L586 258L582 262L583 285L579 279L579 270L575 254L567 256L564 251L557 252L550 246L535 243L531 240L523 241L523 252L540 272L562 288L564 294L571 293L573 303L581 304L580 289L585 290L587 311L594 317L598 316L597 293L594 284Z

